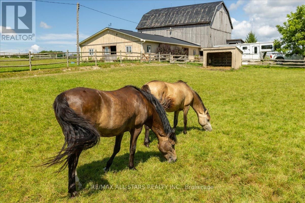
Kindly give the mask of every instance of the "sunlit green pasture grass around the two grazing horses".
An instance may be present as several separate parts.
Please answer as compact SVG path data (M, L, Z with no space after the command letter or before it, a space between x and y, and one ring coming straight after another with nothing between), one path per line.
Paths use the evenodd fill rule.
M0 202L304 202L303 69L130 64L61 72L1 77ZM190 110L184 135L180 113L177 162L163 159L152 133L150 148L144 147L143 130L135 153L138 170L127 167L130 135L125 133L121 151L104 173L115 138L101 138L98 146L81 154L77 172L83 189L74 200L67 193L67 170L53 174L58 167L32 167L63 145L52 103L64 90L78 86L114 90L179 79L198 91L210 109L213 131L202 131ZM173 113L168 118L172 124ZM94 190L92 184L146 188ZM179 185L179 189L147 189L152 184ZM185 185L213 189L189 190Z

